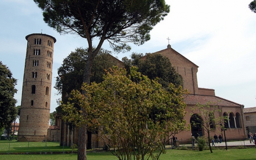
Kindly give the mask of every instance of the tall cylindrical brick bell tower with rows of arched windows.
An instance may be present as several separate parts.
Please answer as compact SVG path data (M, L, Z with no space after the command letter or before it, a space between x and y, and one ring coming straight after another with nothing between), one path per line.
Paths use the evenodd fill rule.
M49 127L52 62L56 39L47 34L26 36L18 139L42 141Z

